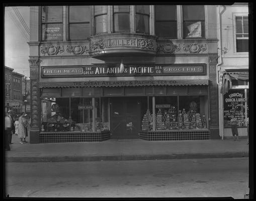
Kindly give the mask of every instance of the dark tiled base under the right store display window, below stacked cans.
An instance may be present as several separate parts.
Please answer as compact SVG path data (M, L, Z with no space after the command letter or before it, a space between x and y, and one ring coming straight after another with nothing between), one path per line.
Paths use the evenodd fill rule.
M209 140L210 131L183 130L183 131L140 131L139 138L142 140Z

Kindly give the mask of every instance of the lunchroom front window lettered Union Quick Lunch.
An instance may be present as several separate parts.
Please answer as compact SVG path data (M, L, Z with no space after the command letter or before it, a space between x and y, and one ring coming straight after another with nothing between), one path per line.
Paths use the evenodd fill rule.
M231 117L238 121L238 127L246 127L246 119L249 117L247 89L229 89L223 95L224 128L230 128ZM246 94L245 94L246 93Z

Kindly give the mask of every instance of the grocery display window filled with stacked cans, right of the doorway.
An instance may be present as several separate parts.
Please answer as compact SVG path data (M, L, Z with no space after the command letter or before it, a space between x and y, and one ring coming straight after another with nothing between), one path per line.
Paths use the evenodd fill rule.
M148 104L151 103L148 101ZM155 130L207 129L207 103L207 96L204 95L156 96L152 106L155 107L155 118L150 107L146 112L142 109L141 129L153 131L153 124Z

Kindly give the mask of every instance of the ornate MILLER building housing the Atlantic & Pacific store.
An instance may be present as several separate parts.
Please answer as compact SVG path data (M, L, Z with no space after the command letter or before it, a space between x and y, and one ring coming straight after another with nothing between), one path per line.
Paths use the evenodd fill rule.
M219 139L216 8L30 7L30 142Z

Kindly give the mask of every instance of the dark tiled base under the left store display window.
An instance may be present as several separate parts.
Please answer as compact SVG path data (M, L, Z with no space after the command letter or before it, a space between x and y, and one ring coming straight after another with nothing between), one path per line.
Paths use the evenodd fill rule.
M111 138L110 132L42 132L40 143L102 142Z

